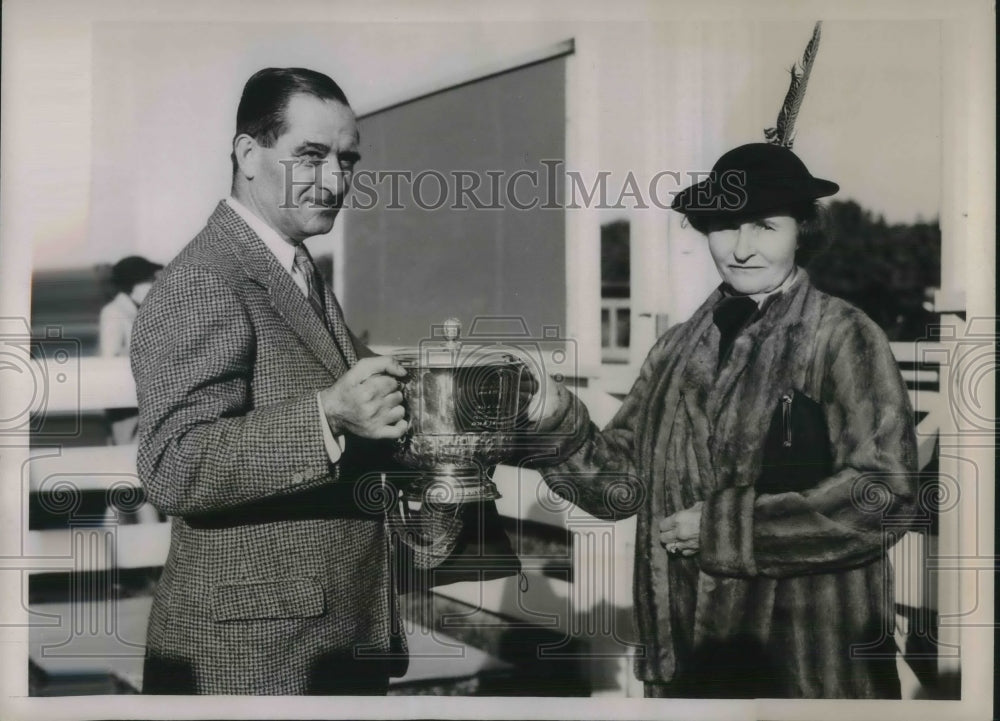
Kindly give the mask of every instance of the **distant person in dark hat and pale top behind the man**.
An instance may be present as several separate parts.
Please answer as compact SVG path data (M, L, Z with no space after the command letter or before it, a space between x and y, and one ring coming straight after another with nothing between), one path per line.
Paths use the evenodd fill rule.
M111 302L101 308L98 339L103 358L128 357L132 324L139 313L139 306L162 269L162 265L138 255L122 258L112 266L111 283L117 293ZM138 411L134 408L109 408L107 418L111 426L111 445L135 443Z

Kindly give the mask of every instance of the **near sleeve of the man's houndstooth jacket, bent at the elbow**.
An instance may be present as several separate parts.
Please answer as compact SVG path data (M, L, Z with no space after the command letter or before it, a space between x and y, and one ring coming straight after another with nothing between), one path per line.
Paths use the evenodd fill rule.
M143 303L131 352L138 471L164 513L218 511L330 480L314 392L254 407L255 343L243 304L205 268L172 269Z

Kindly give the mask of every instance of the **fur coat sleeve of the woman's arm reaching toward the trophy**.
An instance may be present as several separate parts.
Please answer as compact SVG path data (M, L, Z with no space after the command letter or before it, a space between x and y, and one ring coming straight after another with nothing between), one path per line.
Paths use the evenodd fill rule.
M552 436L557 451L550 459L530 463L539 468L556 494L598 518L628 518L645 500L645 483L636 470L636 424L655 383L665 342L666 336L650 351L639 377L604 430L570 394L563 421Z

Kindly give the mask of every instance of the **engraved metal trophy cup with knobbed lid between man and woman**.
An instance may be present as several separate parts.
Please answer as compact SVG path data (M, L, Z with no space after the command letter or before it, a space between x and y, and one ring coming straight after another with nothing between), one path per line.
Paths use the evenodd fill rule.
M442 328L443 343L394 354L409 371L410 426L395 453L415 471L406 496L444 505L499 498L490 472L510 458L526 365L502 346L463 344L457 320Z

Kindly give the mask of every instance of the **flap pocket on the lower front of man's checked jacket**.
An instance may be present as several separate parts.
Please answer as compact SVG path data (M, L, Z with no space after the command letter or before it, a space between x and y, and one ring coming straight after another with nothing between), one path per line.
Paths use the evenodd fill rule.
M323 615L323 587L314 578L224 583L212 589L212 620L249 621Z

